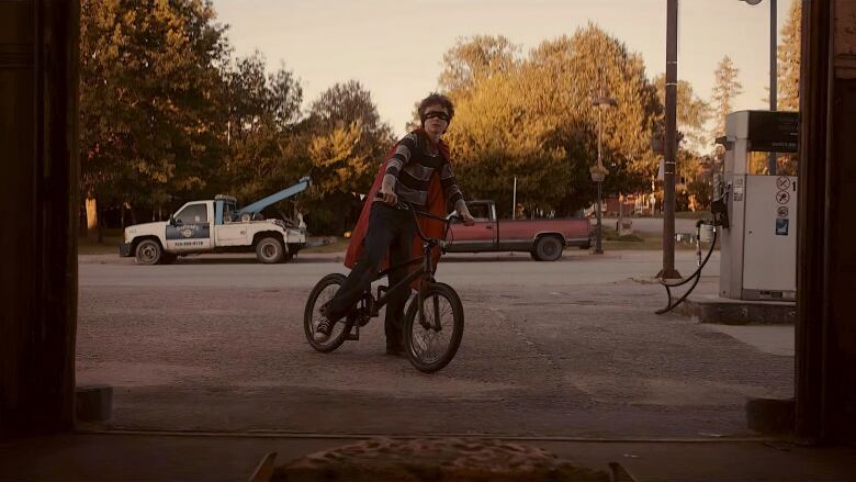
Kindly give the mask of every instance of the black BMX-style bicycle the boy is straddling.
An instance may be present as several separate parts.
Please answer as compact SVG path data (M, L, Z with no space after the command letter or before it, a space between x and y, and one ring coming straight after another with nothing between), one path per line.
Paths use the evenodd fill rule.
M409 210L414 215L414 221L417 221L416 216L420 215L446 223L446 233L449 232L449 225L452 220L460 220L459 216L439 217L430 213L416 211L413 205L404 202L396 208ZM438 282L433 278L431 249L440 247L441 253L444 253L448 243L442 239L427 237L418 222L416 223L416 231L423 240L423 256L408 259L380 271L375 274L372 282L387 277L393 270L406 266L421 266L408 273L407 277L394 287L379 285L376 296L372 293L370 285L351 311L334 325L330 337L322 343L316 341L314 338L315 329L322 318L318 307L333 299L336 291L345 282L345 276L330 273L315 284L315 288L309 293L309 298L306 300L306 307L303 314L306 339L314 349L320 352L330 352L339 348L345 341L359 340L360 328L365 326L371 318L379 316L380 310L386 304L390 295L399 290L409 290L410 283L420 279L416 295L410 296L409 305L405 311L402 327L405 355L417 370L425 373L436 372L449 365L458 352L463 338L463 304L452 287ZM451 315L451 320L444 318L448 315ZM446 348L442 350L435 349L433 343L443 338L447 334L448 343Z

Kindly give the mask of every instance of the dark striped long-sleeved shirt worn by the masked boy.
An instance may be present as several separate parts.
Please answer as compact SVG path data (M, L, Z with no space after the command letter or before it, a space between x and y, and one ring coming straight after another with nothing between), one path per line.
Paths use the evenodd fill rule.
M435 171L440 175L440 186L447 204L453 206L463 199L463 194L458 188L452 166L427 139L420 139L418 134L412 132L404 136L386 165L386 173L397 179L395 193L418 208L428 205L428 188Z

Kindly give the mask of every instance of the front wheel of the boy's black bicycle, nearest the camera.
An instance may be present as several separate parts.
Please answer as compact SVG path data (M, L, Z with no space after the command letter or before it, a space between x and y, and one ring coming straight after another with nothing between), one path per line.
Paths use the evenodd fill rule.
M458 293L443 283L431 283L423 294L414 296L404 317L404 340L407 358L417 370L432 373L454 358L463 338L463 304Z

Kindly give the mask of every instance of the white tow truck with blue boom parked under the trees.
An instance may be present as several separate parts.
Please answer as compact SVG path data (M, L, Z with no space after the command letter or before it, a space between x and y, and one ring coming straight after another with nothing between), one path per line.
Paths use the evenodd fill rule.
M219 194L214 200L185 203L169 221L134 224L125 228L122 257L136 257L138 264L158 265L179 256L200 253L256 253L264 264L292 259L306 246L306 225L297 220L263 218L261 210L304 191L308 177L296 184L252 204L237 209L237 200Z

